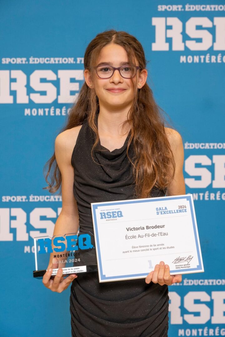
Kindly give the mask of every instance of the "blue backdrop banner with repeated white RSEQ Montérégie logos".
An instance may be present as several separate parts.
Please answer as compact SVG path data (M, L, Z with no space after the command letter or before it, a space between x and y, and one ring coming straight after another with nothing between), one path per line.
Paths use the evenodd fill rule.
M85 48L112 28L142 43L148 84L184 142L205 272L169 287L169 336L225 336L225 4L2 0L0 9L0 336L71 334L69 288L52 293L33 279L33 238L52 236L61 211L43 167L84 82Z

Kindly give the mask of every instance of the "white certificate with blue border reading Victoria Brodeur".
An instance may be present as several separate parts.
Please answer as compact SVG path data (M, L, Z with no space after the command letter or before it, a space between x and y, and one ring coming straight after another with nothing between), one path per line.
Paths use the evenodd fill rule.
M100 282L203 272L192 194L91 203Z

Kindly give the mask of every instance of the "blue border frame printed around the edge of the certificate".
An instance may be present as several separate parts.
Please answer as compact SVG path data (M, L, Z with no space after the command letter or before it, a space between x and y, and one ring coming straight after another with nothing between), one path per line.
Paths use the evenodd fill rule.
M97 252L98 252L98 257L99 257L99 272L101 275L101 280L110 280L110 279L115 279L115 278L126 278L126 277L138 277L138 276L145 276L147 275L146 273L142 274L129 274L129 275L118 275L118 276L106 276L103 274L103 269L102 269L102 257L101 257L101 250L100 250L100 245L99 245L99 232L98 232L98 227L97 227L97 219L96 219L96 209L98 207L102 206L112 206L112 205L122 205L122 204L136 204L136 203L151 203L155 201L162 201L162 199L165 198L167 200L175 200L175 199L186 199L189 204L190 204L190 210L191 210L191 217L192 217L192 223L193 223L193 230L195 234L195 244L197 248L197 255L198 255L198 263L199 265L196 268L187 268L187 269L179 269L179 270L170 270L171 273L177 273L179 272L188 272L188 271L198 271L202 270L202 264L201 264L201 258L200 258L200 250L199 250L199 244L198 244L198 238L197 238L197 231L196 231L196 221L194 217L194 211L193 211L193 206L192 206L192 198L191 195L186 195L186 196L171 196L171 197L160 197L160 198L147 198L147 199L142 199L142 200L126 200L126 201L119 201L119 202L109 202L109 203L100 203L100 204L93 204L91 205L92 210L93 210L93 218L94 218L94 228L95 228L95 239L97 243Z

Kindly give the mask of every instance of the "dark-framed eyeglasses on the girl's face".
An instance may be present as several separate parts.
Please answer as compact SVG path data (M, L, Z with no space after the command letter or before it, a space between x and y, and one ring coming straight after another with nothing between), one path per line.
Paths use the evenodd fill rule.
M135 65L122 65L118 68L109 65L100 65L96 67L96 72L100 79L110 79L114 71L119 70L120 75L124 79L131 79L136 75L138 69L141 69L141 67Z

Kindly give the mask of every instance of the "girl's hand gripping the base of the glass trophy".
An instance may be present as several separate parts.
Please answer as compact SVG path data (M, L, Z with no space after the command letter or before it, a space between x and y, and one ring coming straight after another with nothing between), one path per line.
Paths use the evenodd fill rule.
M57 258L53 258L52 266L48 268L45 275L43 276L43 284L46 288L52 290L53 292L61 293L63 290L68 288L69 284L77 277L77 274L71 274L67 277L62 276L62 268L59 268L54 279L50 279L52 275L52 270L58 268Z

